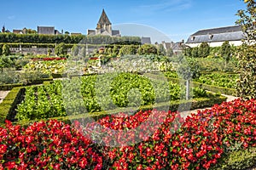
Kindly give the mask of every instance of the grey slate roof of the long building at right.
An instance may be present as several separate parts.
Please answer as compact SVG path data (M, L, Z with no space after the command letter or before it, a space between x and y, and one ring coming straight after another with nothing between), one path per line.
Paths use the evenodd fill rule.
M186 43L239 41L244 38L241 26L226 26L197 31L188 38Z

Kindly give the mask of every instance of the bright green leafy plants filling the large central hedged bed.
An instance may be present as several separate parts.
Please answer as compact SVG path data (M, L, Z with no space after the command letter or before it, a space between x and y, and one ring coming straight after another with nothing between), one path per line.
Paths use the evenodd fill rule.
M80 90L87 112L108 111L116 107L139 108L141 105L154 105L184 98L184 88L176 83L150 81L147 77L129 73L119 74L109 82L111 76L109 74L81 78ZM65 88L62 88L63 84ZM28 87L24 101L18 106L16 117L22 121L66 116L61 89L68 89L65 90L65 96L73 97L77 88L79 87L76 81L70 83L55 81L44 87ZM195 98L207 98L204 90L195 88L194 91ZM77 105L75 110L70 111L72 114L79 113L81 104L78 99L72 100L72 104Z

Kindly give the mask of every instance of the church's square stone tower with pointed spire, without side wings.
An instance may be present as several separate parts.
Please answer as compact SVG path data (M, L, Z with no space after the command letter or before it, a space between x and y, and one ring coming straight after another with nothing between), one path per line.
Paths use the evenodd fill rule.
M112 24L108 20L104 9L102 10L102 15L96 26L96 35L98 34L112 36Z

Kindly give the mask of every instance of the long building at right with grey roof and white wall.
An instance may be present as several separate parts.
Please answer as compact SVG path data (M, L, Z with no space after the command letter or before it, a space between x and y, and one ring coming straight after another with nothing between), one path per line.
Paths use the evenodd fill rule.
M210 47L219 47L223 42L229 41L231 45L239 46L242 43L241 40L245 38L241 26L225 26L196 31L189 36L186 45L194 48L199 46L201 42L208 42Z

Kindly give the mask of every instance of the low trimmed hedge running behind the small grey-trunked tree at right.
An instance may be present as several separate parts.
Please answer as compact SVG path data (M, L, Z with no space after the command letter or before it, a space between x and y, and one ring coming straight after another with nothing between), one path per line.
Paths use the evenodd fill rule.
M170 82L176 82L176 83L185 82L178 78L171 78L171 77L168 77L167 80ZM221 94L237 96L236 89L233 89L233 88L222 88L222 87L218 87L218 86L203 84L201 82L190 82L190 84L192 85L193 88L203 88L203 89L206 89L206 90L214 92L214 93L221 93Z

